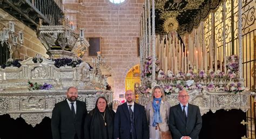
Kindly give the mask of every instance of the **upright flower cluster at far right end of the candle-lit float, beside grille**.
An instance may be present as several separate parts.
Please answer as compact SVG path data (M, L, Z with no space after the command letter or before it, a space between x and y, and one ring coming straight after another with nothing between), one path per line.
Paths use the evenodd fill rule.
M227 69L232 72L238 72L239 62L237 55L230 55L227 57Z

